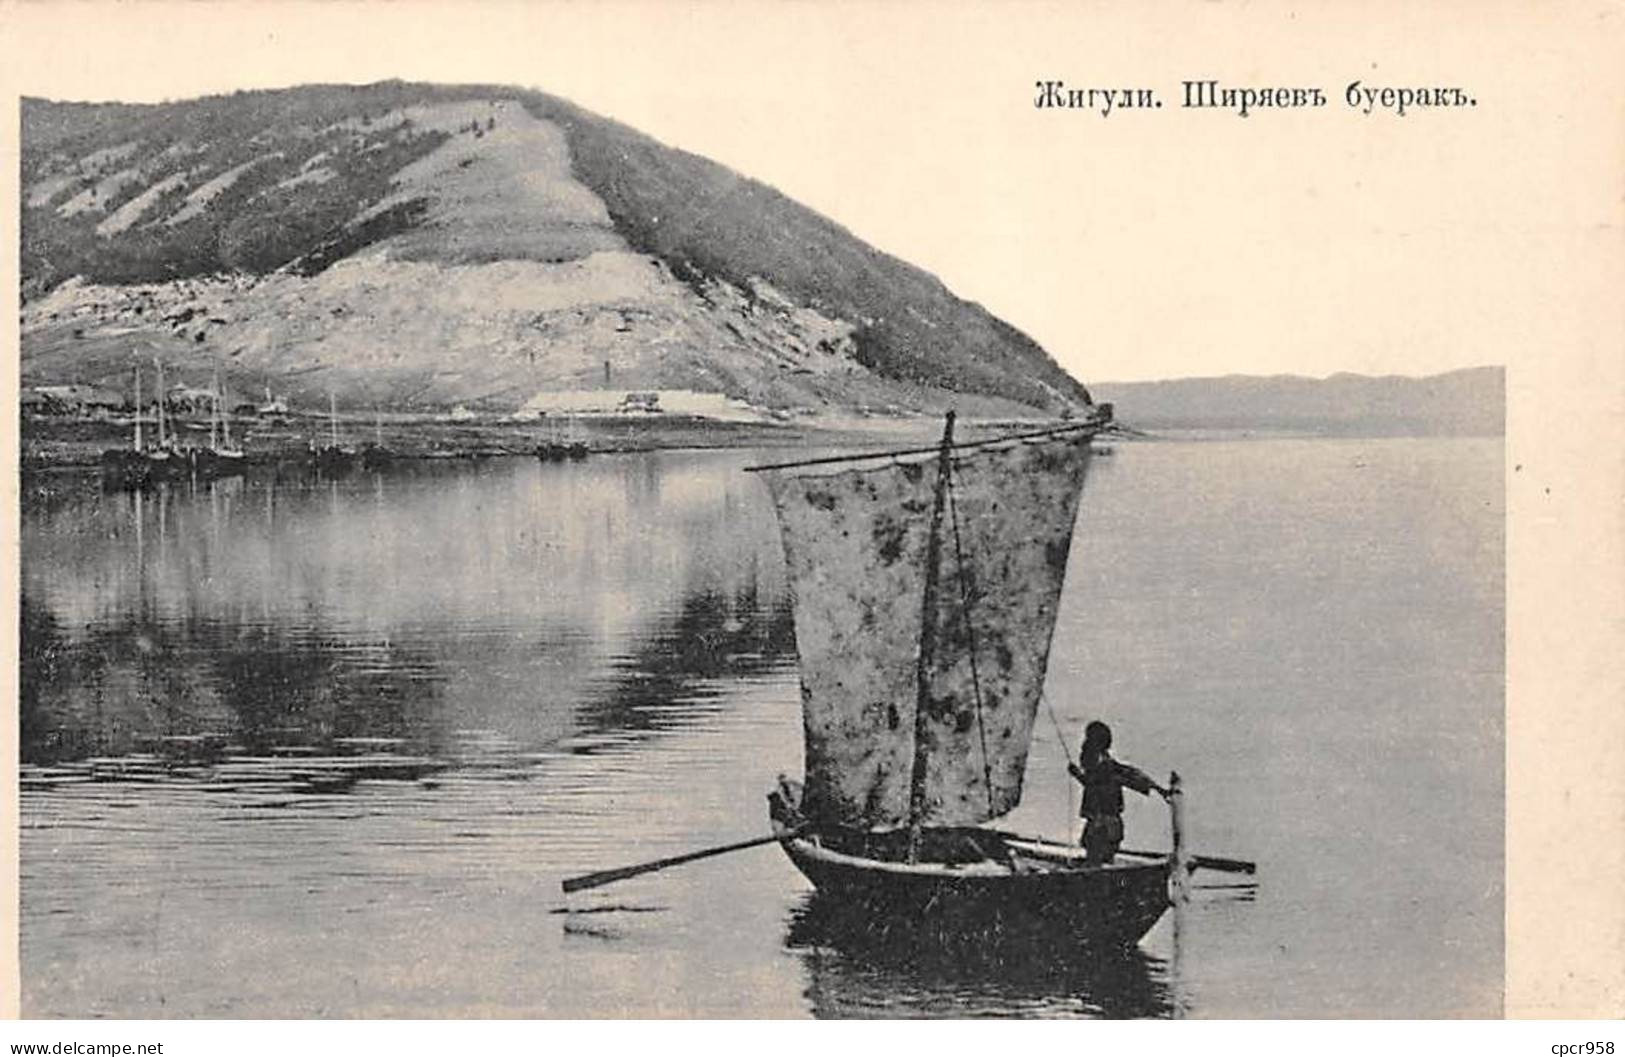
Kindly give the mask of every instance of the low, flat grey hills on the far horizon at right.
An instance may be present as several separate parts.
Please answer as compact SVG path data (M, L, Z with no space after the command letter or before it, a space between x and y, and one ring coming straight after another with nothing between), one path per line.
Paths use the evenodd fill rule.
M1277 374L1100 382L1095 400L1142 429L1287 429L1360 436L1500 436L1506 371L1467 368L1428 377Z

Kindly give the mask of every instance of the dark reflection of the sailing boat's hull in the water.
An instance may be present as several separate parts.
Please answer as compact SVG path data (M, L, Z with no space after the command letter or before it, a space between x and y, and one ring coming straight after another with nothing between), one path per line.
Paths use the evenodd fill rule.
M791 912L786 945L817 1016L1173 1016L1167 963L1060 938L954 942L876 922L819 894Z

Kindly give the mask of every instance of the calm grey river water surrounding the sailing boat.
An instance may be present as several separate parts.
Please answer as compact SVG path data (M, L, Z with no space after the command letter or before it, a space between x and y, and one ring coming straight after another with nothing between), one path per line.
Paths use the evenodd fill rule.
M1048 698L1259 862L1126 956L866 942L774 846L562 896L800 772L752 460L26 488L24 1015L1500 1013L1498 439L1095 460ZM1009 826L1064 836L1038 722Z

